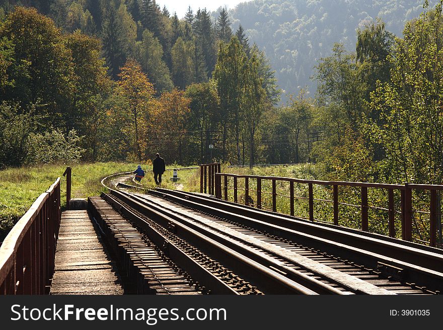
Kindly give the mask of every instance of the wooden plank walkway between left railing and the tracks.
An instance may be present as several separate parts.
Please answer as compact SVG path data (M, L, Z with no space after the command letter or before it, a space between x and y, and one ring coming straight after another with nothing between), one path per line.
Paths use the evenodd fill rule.
M123 294L114 262L88 211L65 211L55 253L50 294Z

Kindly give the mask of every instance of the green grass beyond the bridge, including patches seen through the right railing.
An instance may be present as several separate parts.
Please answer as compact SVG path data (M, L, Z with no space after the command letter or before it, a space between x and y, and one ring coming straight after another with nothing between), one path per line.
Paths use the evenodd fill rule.
M101 186L102 178L114 173L134 171L135 163L122 162L107 162L107 163L92 163L92 164L77 164L72 167L72 198L87 198L89 196L100 195L104 190ZM145 178L141 184L147 189L155 189L154 176L151 172L151 165L142 164L142 168L146 172ZM178 169L177 183L173 183L170 178L173 176L172 170ZM65 170L64 165L42 166L38 168L20 168L8 169L0 171L0 241L3 240L6 233L12 228L14 223L28 210L35 199L58 178L61 177L61 194L62 206L65 203L65 180L62 174ZM221 167L221 172L244 174L244 175L259 175L259 176L273 176L273 177L290 177L311 180L324 180L322 173L312 164L297 164L290 166L272 166L272 167L255 167L253 170L249 168L228 168ZM129 184L134 185L129 182ZM262 182L262 206L263 208L272 208L272 191L271 182L264 180ZM254 192L255 181L250 180L249 196L256 200L256 193ZM232 187L230 181L228 184ZM168 166L167 171L163 176L162 188L178 189L189 192L197 192L200 190L200 173L199 169L180 170L180 167ZM239 203L244 203L244 180L239 180ZM277 184L277 211L289 214L289 199L287 198L289 192L289 184L287 182L278 182ZM308 187L303 184L294 185L294 194L297 198L294 201L295 215L299 217L308 217ZM425 199L414 198L419 201L419 204L424 205ZM332 199L332 187L314 185L314 198L320 200ZM378 207L386 207L387 196L386 192L382 190L368 191L368 199L370 204ZM229 200L233 201L233 191L229 190ZM360 191L349 187L349 189L341 189L339 193L340 202L350 204L360 203ZM396 209L400 209L400 196L396 196ZM427 203L428 205L428 203ZM314 205L314 218L331 222L332 221L332 204L328 202L316 201ZM417 205L416 209L420 209L422 205ZM388 230L388 214L382 210L371 210L369 213L369 227L370 231L387 234ZM419 214L421 217L421 214ZM359 228L360 227L360 209L349 205L340 205L339 210L339 224L346 227ZM421 227L420 234L417 238L427 239L428 237L428 219L417 218L414 219L414 225ZM397 214L395 219L395 226L397 228L397 236L401 233L400 214Z

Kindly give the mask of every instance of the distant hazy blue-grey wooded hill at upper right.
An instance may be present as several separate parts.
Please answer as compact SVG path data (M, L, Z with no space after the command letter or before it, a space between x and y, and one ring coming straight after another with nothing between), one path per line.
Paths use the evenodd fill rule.
M276 70L282 98L302 88L316 92L314 66L330 56L332 45L355 49L356 29L380 18L401 37L405 24L423 11L423 0L254 0L230 10L233 27L264 50ZM429 1L434 6L437 1ZM215 13L216 15L216 13Z

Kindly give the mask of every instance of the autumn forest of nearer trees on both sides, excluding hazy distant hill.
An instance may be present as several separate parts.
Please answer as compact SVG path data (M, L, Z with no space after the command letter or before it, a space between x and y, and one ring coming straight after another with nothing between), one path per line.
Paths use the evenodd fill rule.
M160 152L170 164L311 162L322 179L441 183L441 2L402 37L377 19L352 51L331 44L315 97L302 88L284 106L264 51L226 9L214 23L154 0L2 8L0 168Z

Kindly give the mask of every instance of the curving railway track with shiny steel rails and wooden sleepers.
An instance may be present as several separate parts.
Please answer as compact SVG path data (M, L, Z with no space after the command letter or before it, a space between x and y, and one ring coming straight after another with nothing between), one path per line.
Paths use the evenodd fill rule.
M129 193L124 175L104 179L110 193L103 199L140 233L151 238L155 235L149 231L155 230L162 235L154 242L162 246L157 249L165 252L165 246L174 244L183 254L180 258L203 268L210 264L208 272L198 273L195 266L166 253L194 292L220 293L219 282L234 277L235 283L225 282L233 290L223 293L431 295L443 289L443 255L437 249L198 194L163 189Z

